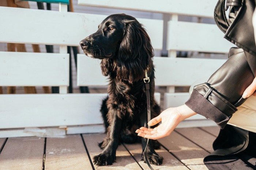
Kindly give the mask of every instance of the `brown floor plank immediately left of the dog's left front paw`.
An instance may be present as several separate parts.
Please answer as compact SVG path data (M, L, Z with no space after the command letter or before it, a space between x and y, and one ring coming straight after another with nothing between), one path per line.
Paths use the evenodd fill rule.
M45 169L93 169L80 135L47 138Z

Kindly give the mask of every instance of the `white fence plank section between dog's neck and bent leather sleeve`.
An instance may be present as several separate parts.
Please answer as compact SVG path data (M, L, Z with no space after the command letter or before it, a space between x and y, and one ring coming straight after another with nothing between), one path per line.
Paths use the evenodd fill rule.
M156 86L191 86L208 78L225 63L225 59L154 57Z

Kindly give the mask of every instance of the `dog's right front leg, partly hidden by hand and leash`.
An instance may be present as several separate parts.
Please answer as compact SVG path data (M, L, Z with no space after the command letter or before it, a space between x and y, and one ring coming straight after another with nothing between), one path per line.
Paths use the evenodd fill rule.
M147 111L144 111L140 115L140 123L141 126L147 127ZM144 162L146 162L146 159L144 157L144 154L147 154L148 161L151 164L154 165L161 165L163 163L163 157L161 155L158 155L154 150L153 141L150 139L148 141L147 151L144 153L145 147L147 145L147 138L142 138L142 157L144 159Z

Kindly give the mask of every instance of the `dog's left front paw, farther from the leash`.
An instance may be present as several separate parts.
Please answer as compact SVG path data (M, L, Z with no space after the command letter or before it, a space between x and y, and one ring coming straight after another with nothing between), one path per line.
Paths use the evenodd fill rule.
M94 165L103 166L103 165L112 165L114 160L116 159L115 154L99 154L93 157Z

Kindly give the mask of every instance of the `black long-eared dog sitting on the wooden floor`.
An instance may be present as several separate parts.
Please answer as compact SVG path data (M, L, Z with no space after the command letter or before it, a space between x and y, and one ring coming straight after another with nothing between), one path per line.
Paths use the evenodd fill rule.
M103 151L93 158L93 162L112 165L118 144L140 141L135 130L147 126L145 71L150 78L151 116L154 118L160 113L154 99L153 48L142 25L125 14L108 16L99 24L97 32L80 41L80 46L87 56L102 59L102 74L109 76L109 96L101 107L107 136L99 143ZM144 151L147 139L141 141ZM163 157L154 150L159 147L157 141L148 143L147 158L155 165L163 162Z

